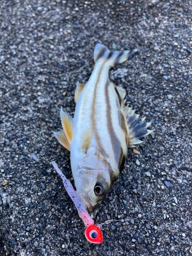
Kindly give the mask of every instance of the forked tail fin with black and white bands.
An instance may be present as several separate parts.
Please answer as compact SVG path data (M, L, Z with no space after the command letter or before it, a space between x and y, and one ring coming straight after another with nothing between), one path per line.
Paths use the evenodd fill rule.
M107 47L97 44L94 49L94 61L109 62L110 68L115 67L121 62L129 59L137 49L132 51L115 51L111 52Z

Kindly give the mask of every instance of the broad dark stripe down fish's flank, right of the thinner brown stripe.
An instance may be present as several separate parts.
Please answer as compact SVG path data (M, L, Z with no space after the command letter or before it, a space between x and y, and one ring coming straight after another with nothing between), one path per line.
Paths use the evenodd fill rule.
M115 161L116 161L116 163L118 163L119 156L121 154L121 152L120 152L121 143L120 143L119 139L117 138L115 131L113 129L110 97L109 97L109 91L108 91L109 86L110 86L110 80L107 79L107 81L105 83L106 126L108 127L108 133L110 135L113 153L115 156Z

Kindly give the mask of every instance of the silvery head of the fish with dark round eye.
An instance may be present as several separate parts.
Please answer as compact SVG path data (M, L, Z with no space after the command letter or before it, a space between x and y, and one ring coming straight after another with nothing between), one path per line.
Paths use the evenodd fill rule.
M101 204L112 186L108 159L98 150L91 153L77 165L75 179L77 194L89 212Z

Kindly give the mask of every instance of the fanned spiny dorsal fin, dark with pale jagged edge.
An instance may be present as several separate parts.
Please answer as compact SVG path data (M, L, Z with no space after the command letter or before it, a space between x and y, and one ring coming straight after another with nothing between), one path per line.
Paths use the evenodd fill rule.
M143 141L143 137L147 136L148 134L154 134L153 131L147 130L147 127L151 125L150 123L144 122L145 117L141 118L139 115L135 114L135 110L132 108L125 108L125 116L127 121L127 127L130 133L130 146L134 147L136 144L140 144Z

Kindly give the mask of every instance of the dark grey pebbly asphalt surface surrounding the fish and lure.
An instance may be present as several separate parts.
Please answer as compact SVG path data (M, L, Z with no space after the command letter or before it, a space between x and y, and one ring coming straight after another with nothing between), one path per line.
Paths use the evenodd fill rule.
M191 1L1 1L0 255L192 254L191 9ZM73 183L70 154L51 131L61 129L61 106L73 116L75 84L89 79L97 42L138 49L110 77L155 131L140 154L129 150L93 212L96 224L126 219L104 224L100 245L84 237L51 165Z

